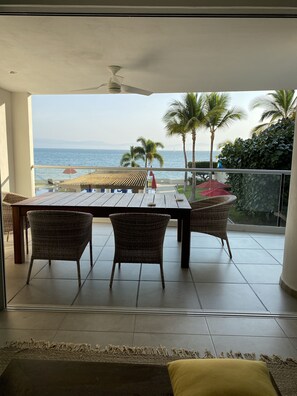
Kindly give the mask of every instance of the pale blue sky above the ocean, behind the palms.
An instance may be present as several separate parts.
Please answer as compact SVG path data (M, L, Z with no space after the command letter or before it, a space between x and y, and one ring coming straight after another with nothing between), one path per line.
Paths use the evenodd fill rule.
M250 137L261 109L250 110L253 98L268 91L229 92L231 106L247 113L245 120L216 133L215 149L225 140ZM33 95L34 147L128 149L139 136L160 141L167 150L180 150L178 138L166 137L163 115L183 94ZM191 149L189 136L187 148ZM209 150L209 132L199 130L197 150Z

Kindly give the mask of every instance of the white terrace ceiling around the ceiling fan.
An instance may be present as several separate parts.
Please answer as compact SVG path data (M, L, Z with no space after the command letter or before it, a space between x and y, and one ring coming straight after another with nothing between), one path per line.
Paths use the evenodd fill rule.
M297 19L0 16L0 54L12 92L73 94L108 65L156 93L295 89Z

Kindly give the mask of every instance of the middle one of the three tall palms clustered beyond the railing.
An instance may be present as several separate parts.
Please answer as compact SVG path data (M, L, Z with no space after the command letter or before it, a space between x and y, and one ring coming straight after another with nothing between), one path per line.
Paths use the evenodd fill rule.
M177 117L185 126L185 131L192 135L192 166L196 164L196 131L203 125L203 100L202 96L197 93L186 93L181 101L175 100L170 105L171 109L168 111L169 117ZM196 173L192 173L192 192L189 198L190 201L195 200L196 191Z

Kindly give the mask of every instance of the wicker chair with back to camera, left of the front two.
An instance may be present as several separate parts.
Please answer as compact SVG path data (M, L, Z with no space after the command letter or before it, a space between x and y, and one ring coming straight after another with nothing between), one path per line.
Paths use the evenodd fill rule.
M91 268L93 267L93 215L65 210L32 210L27 215L32 236L32 256L27 284L30 282L34 260L49 260L49 265L52 260L66 260L76 261L80 287L80 258L88 243L90 264Z

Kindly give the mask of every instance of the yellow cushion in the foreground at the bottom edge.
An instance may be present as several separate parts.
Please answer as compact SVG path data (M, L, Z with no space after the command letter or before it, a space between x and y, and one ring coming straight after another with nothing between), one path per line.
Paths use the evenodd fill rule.
M174 396L277 396L264 362L185 359L167 367Z

